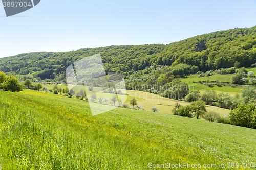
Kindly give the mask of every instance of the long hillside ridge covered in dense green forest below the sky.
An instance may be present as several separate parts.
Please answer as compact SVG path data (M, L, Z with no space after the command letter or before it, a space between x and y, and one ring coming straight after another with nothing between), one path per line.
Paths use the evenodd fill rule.
M185 63L200 71L232 67L234 62L249 67L256 62L256 26L217 31L179 42L151 45L120 45L84 48L70 52L36 52L0 58L0 71L33 74L40 79L63 79L71 63L100 53L106 71L124 75L153 65ZM253 65L254 66L254 65Z

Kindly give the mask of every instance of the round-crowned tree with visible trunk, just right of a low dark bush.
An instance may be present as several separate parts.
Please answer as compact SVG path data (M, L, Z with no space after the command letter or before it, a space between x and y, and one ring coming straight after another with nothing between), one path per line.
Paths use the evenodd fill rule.
M203 116L206 112L205 103L202 100L196 102L191 102L189 105L189 110L194 112L195 117L199 119L200 116Z

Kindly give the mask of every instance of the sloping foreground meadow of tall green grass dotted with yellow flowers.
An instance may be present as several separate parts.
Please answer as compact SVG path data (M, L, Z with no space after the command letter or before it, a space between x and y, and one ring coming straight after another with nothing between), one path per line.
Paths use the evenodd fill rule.
M88 102L32 90L0 91L0 136L2 169L256 160L255 129L125 108L91 116Z

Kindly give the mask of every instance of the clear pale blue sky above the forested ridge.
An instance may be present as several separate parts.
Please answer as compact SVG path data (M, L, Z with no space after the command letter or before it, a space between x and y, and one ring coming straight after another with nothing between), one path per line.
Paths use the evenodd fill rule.
M6 17L0 7L0 57L128 44L169 44L256 25L256 0L41 0Z

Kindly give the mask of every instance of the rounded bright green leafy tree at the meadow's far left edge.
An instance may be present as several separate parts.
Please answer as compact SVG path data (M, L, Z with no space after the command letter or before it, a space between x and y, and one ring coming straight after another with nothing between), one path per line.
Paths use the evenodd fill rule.
M6 77L6 80L2 83L3 90L11 92L19 92L23 89L23 84L19 83L19 80L10 74Z

